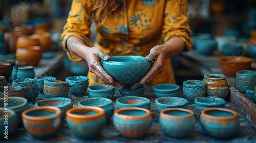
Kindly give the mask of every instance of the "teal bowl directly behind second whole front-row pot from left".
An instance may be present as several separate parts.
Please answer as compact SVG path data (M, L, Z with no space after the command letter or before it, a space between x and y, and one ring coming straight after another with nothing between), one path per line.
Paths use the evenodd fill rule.
M106 123L108 123L114 114L114 104L112 100L106 98L88 98L78 102L78 107L96 106L104 109Z

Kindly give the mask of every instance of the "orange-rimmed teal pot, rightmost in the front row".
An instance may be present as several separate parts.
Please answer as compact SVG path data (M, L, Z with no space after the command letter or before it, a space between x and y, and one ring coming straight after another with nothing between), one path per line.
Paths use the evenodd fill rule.
M216 138L232 137L240 126L238 113L225 108L203 110L200 123L208 135Z

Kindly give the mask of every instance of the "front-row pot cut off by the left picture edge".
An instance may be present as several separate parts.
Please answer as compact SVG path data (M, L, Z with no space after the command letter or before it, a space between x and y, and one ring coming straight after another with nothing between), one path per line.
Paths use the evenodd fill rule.
M8 122L5 122L6 117L8 118L7 120ZM7 129L5 128L6 126L8 126ZM0 108L0 138L4 139L5 136L7 136L8 139L11 138L12 134L16 129L17 129L16 113L11 109L5 110L4 108ZM7 130L7 134L5 134L6 131L4 130Z

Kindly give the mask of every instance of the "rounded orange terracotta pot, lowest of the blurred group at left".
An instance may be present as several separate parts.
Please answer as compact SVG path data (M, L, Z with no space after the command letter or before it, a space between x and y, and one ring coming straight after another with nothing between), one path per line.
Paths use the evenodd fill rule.
M15 55L19 62L36 66L42 58L42 50L40 46L19 47Z

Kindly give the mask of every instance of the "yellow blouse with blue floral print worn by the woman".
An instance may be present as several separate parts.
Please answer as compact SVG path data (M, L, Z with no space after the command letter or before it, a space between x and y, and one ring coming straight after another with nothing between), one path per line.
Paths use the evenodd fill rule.
M118 1L120 2L120 1ZM61 34L64 50L70 59L81 58L67 49L67 39L77 36L90 46L92 23L92 0L73 0L67 23ZM187 0L124 0L121 8L113 9L103 26L96 29L95 47L106 55L146 56L152 47L165 43L173 36L185 43L185 51L190 50L192 40L188 25ZM88 73L89 84L104 83L95 74ZM164 60L164 70L146 85L175 83L170 59Z

